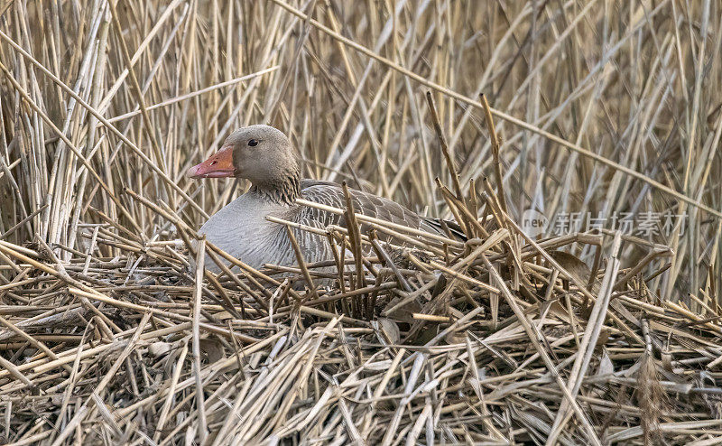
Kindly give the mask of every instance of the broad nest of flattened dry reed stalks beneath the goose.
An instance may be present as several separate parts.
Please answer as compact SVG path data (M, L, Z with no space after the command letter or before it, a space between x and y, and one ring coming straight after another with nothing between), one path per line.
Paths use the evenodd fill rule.
M622 246L647 263L669 249L535 241L490 189L478 220L442 190L467 241L328 228L360 262L258 271L204 240L189 253L107 225L92 243L112 258L0 241L18 271L0 293L24 302L0 319L5 441L683 443L722 423L717 305L657 299L668 265L620 269ZM191 274L206 251L231 274Z

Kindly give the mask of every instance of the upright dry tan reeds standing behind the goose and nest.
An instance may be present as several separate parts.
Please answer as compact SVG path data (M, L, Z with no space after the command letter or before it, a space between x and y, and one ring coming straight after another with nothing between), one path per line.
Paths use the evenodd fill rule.
M0 233L24 220L8 241L79 248L79 225L106 219L148 238L170 228L126 187L197 227L200 209L243 188L183 172L254 123L291 135L310 177L443 215L434 178L449 173L424 92L461 183L492 173L483 110L448 89L484 93L580 147L497 116L514 215L686 213L682 234L652 237L677 253L657 288L719 295L722 219L619 168L722 209L717 2L120 2L115 15L106 2L6 2L2 12Z

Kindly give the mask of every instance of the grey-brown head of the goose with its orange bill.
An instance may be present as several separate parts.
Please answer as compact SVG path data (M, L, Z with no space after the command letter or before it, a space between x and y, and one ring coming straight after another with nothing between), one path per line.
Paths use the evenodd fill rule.
M269 125L249 125L226 138L217 153L191 167L190 178L236 177L254 188L298 188L299 164L291 141ZM294 186L295 185L295 186Z

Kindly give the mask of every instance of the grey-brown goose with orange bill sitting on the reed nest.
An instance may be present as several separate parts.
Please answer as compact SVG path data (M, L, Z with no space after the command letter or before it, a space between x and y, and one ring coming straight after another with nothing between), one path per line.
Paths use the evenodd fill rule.
M303 199L346 208L344 191L338 184L301 179L291 142L280 130L268 125L250 125L236 130L217 153L191 167L187 174L191 178L236 177L251 181L251 188L208 218L199 234L205 234L208 241L254 268L264 264L296 263L286 228L269 221L268 216L312 228L345 226L343 216L295 202ZM420 217L392 200L361 190L349 190L349 194L356 213L444 234L438 219ZM293 230L306 262L333 258L326 237ZM218 265L208 257L205 265L210 271L220 272Z

